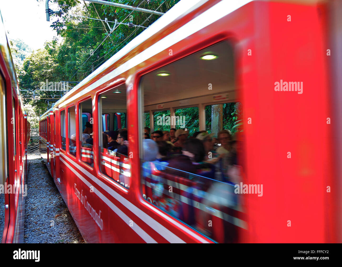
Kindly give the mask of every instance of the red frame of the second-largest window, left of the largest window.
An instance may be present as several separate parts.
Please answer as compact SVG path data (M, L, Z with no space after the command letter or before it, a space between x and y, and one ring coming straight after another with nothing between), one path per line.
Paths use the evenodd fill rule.
M109 176L107 176L106 174L101 172L101 163L100 163L100 157L101 157L101 147L102 147L102 135L100 135L100 133L102 134L103 132L103 125L100 122L100 118L102 119L102 108L100 105L100 95L104 94L106 92L109 92L111 90L115 90L121 86L125 87L125 90L127 91L126 88L126 80L121 80L113 85L107 86L99 91L96 92L95 96L94 96L94 103L96 103L96 116L98 118L98 125L97 125L97 130L96 130L96 135L98 137L98 143L96 144L97 148L94 150L96 151L97 155L98 155L98 159L95 161L94 166L96 164L96 174L98 178L101 178L103 181L106 181L108 183L110 183L111 185L113 185L115 188L119 189L122 193L125 193L126 195L132 190L129 190L129 188L126 188L124 186L122 186L121 184L119 184L117 181L115 181L113 178L110 178ZM127 107L127 95L126 95L126 107ZM126 121L127 120L127 110L126 110ZM113 123L114 124L114 123Z

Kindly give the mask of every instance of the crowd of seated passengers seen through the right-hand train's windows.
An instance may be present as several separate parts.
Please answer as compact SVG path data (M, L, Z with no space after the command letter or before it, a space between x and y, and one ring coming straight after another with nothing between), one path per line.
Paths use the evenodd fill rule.
M87 122L85 126L81 137L82 146L93 145L92 125ZM166 169L178 176L184 177L192 173L219 181L237 182L238 134L232 136L230 131L222 130L218 133L218 138L213 138L214 134L198 131L189 137L188 131L183 129L172 128L170 132L157 130L150 134L150 129L145 127L143 160L155 163L158 170ZM76 135L70 138L75 140ZM127 129L102 132L102 138L103 148L128 155ZM145 164L144 169L146 166Z

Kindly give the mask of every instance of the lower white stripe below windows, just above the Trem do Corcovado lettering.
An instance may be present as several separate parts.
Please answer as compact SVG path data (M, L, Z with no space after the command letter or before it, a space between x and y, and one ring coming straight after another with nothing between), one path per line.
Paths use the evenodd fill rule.
M62 154L64 157L64 155ZM61 161L69 168L69 170L73 171L81 181L86 184L89 188L93 186L91 183L87 181L81 174L74 171L73 168L60 158ZM93 186L94 187L94 186ZM114 205L108 198L106 198L100 191L98 191L95 187L92 189L94 193L105 202L111 210L113 210L127 225L130 224L131 218L128 217L124 212L122 212L116 205ZM132 220L133 221L133 220ZM134 222L134 221L133 221ZM152 237L150 237L139 225L134 222L134 227L132 227L133 231L135 231L146 243L157 243Z

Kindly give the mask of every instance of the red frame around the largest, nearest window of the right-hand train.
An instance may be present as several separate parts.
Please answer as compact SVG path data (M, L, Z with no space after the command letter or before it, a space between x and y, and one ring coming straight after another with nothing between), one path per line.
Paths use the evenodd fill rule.
M205 50L205 49L208 49L210 48L211 46L214 46L214 45L217 45L217 44L220 44L220 43L226 43L227 45L229 45L231 47L231 51L229 51L231 53L231 56L232 56L232 74L233 74L233 82L234 82L234 91L237 91L236 88L238 88L238 75L236 74L236 68L237 68L237 65L236 65L236 56L234 55L234 51L235 51L235 42L234 40L232 40L232 38L226 34L224 35L216 35L214 37L212 37L210 40L203 40L201 41L200 43L198 44L195 44L193 45L192 47L189 47L186 49L186 51L183 51L183 53L180 53L181 55L175 55L174 58L168 58L168 57L165 57L159 61L157 61L155 64L139 71L134 77L133 79L135 80L135 83L134 83L134 87L137 92L137 103L138 103L138 125L139 125L139 129L138 129L138 146L139 146L139 159L138 159L138 162L139 162L139 182L138 182L138 185L139 185L139 190L137 192L139 192L139 197L142 198L142 201L145 201L145 202L148 202L149 204L147 204L147 206L151 207L151 209L153 208L157 208L159 211L165 213L167 216L170 216L170 217L173 217L175 218L177 221L179 221L180 223L182 224L185 224L187 225L188 227L194 229L195 231L199 232L201 235L203 236L206 236L208 237L207 234L193 228L192 226L188 225L187 223L185 223L182 219L178 218L178 217L175 217L173 216L170 212L167 212L166 210L163 210L161 209L159 206L153 204L152 202L149 202L147 199L146 199L146 196L143 195L143 186L145 183L143 183L142 181L142 178L143 178L143 163L144 163L144 160L143 160L143 132L144 132L144 126L145 125L145 122L142 120L143 118L143 114L146 113L148 111L148 109L150 109L150 107L152 107L153 105L157 105L158 106L158 103L153 103L153 104L149 104L149 105L146 105L145 106L145 103L144 103L144 88L142 86L142 82L143 82L143 77L147 74L150 74L154 71L157 71L157 70L161 70L163 69L164 67L168 66L168 65L171 65L177 61L181 61L182 59L186 58L186 57L189 57L193 54L196 54L198 52L201 52L202 50ZM164 71L164 70L162 70ZM230 90L226 90L226 91L230 91ZM225 91L225 92L226 92ZM212 94L208 94L208 96L211 96ZM199 95L198 97L201 97L203 95ZM182 98L183 99L183 98ZM170 100L170 102L165 102L165 103L171 103L172 102L175 102L176 99L174 100ZM158 102L158 101L157 101ZM205 102L208 102L208 103L205 103ZM203 130L201 128L203 128L203 125L201 123L201 120L203 120L203 118L201 118L201 116L203 117L203 114L201 114L202 110L205 110L205 105L210 105L209 102L211 101L205 101L205 102L198 102L197 103L197 107L198 107L198 117L199 117L199 130ZM219 101L218 101L219 102ZM229 102L238 102L237 99L234 99L232 101L232 99L229 99ZM215 103L215 104L220 104L220 103ZM171 106L170 108L166 105L165 108L163 109L170 109L171 110L171 116L172 115L175 115L175 109L178 109L178 108L186 108L186 107L192 107L194 105L189 105L189 106L181 106L181 107L176 107L176 106ZM163 105L164 107L164 105ZM147 108L147 109L146 109ZM162 108L160 108L162 109ZM152 114L154 115L154 112L156 111L155 109L152 109ZM154 116L153 116L154 117ZM204 117L205 117L205 113L204 113ZM150 125L153 126L154 128L154 121L151 121L150 120ZM204 118L204 127L205 127L205 118ZM171 125L170 125L170 128ZM155 129L153 129L155 130ZM151 130L152 131L152 130ZM210 238L210 237L208 237Z

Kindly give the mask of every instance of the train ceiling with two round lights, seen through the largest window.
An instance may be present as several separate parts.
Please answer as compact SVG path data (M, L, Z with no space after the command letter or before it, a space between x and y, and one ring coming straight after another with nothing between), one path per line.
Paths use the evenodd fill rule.
M203 60L214 55L212 60ZM164 75L164 76L158 76ZM209 90L209 83L212 90ZM233 50L221 42L145 75L144 106L234 89Z

